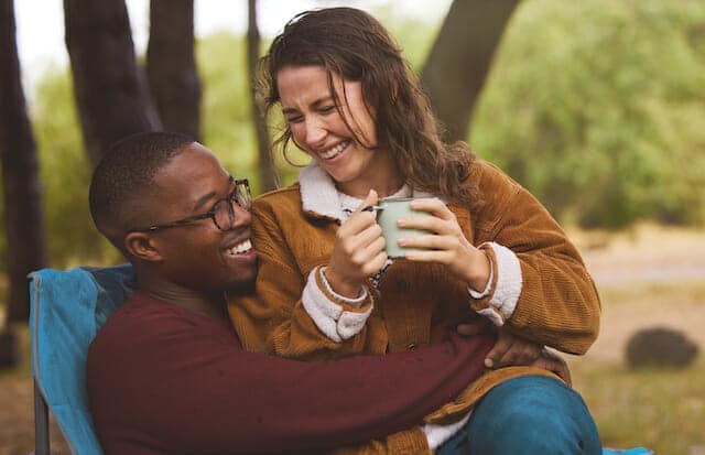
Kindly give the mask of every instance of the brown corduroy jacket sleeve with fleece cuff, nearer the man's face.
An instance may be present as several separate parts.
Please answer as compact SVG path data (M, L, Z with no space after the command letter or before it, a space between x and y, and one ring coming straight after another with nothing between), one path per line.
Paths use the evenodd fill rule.
M365 291L360 302L350 304L326 290L319 267L304 274L302 258L292 254L282 223L270 208L257 201L252 209L256 290L228 296L230 319L245 347L305 359L369 350L365 323L372 311L371 293Z

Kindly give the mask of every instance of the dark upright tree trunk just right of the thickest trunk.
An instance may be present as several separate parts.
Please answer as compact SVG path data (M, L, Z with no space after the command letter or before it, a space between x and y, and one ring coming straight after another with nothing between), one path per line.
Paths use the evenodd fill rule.
M200 137L200 80L194 55L194 1L152 0L147 74L165 130Z

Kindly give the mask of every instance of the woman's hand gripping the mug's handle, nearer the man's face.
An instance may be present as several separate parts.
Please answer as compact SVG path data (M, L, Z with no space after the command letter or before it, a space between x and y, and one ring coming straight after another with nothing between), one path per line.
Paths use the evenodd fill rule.
M335 236L333 256L324 273L330 288L346 297L357 297L360 286L387 261L382 228L376 221L375 212L362 210L377 204L377 193L370 189Z

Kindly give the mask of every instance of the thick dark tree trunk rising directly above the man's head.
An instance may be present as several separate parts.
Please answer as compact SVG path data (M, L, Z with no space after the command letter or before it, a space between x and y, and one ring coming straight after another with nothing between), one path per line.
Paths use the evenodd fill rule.
M134 59L124 0L64 0L64 14L84 143L95 166L113 141L161 123Z

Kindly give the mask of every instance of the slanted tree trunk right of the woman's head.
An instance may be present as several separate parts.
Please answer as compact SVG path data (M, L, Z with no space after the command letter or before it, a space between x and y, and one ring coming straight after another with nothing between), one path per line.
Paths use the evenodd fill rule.
M448 140L465 140L492 55L520 0L454 0L421 74Z

